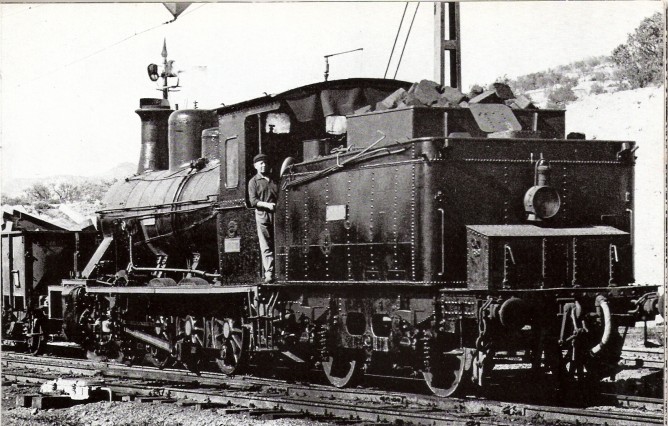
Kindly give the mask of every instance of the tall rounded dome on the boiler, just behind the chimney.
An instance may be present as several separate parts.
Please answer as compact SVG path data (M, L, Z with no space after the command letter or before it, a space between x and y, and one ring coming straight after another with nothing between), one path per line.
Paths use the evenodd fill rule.
M204 109L174 111L169 116L169 170L177 170L202 155L202 130L215 126L216 115Z

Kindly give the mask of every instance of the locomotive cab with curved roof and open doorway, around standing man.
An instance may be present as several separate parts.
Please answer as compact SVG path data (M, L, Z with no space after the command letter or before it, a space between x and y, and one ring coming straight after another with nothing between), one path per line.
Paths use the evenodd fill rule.
M375 104L408 83L351 79L313 84L217 110L221 140L218 215L221 280L258 282L262 272L248 181L253 157L269 157L270 176L279 182L288 163L317 163L332 150L346 150L346 115ZM363 148L363 147L360 147ZM282 195L279 194L279 202ZM279 261L280 258L277 258Z

